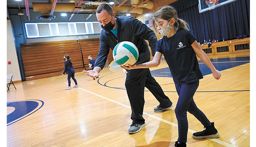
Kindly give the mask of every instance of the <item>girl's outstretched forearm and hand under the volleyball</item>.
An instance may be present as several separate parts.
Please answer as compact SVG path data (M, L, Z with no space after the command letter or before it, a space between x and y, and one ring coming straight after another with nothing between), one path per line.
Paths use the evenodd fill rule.
M152 68L152 67L156 67L160 64L161 57L162 57L162 53L156 51L155 56L152 61L142 63L142 64L137 64L137 65L130 65L130 64L128 64L128 66L121 65L120 67L123 69Z

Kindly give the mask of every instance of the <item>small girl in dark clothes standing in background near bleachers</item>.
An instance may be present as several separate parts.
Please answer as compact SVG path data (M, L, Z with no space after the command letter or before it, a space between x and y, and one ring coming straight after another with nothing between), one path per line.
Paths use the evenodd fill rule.
M79 87L77 85L77 82L76 82L76 79L75 79L75 69L73 68L71 58L69 57L69 55L64 55L63 59L66 62L64 63L65 64L65 69L64 69L62 75L65 75L65 73L68 74L68 83L69 83L69 86L65 87L65 89L66 90L71 89L71 87L70 87L70 84L71 84L70 78L72 78L74 80L75 84L76 84L75 86L73 86L73 88Z

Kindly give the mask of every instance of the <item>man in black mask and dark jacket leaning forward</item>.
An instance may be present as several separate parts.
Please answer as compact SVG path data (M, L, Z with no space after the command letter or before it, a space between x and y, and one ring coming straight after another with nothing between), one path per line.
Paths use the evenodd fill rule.
M115 16L110 5L103 3L97 7L96 16L103 28L100 35L100 50L96 57L93 70L83 72L88 76L95 78L103 69L107 61L109 48L114 49L115 45L122 41L129 41L136 45L139 50L139 58L135 64L150 61L151 54L148 49L152 49L152 55L155 54L156 37L153 30L148 28L141 21L128 16ZM164 91L156 80L151 76L148 68L127 70L125 81L127 95L132 108L131 119L133 120L128 132L133 134L145 126L145 119L142 117L144 107L144 89L147 89L155 96L160 103L154 108L155 112L161 112L173 106L173 103L164 94Z

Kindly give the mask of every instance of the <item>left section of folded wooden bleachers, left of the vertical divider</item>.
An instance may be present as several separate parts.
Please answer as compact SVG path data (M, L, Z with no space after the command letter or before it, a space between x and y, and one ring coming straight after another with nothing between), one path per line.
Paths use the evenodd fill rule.
M65 54L70 55L74 69L84 69L80 44L76 40L24 43L20 46L26 77L41 74L46 74L44 77L56 75L47 76L47 73L52 72L57 72L59 75L64 70L63 56Z

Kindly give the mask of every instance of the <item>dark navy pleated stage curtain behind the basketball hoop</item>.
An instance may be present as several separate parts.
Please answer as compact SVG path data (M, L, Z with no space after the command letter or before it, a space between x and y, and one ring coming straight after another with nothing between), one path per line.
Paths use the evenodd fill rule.
M198 0L179 0L170 5L176 8L178 18L189 24L200 43L250 36L250 0L237 0L203 13L199 13Z

